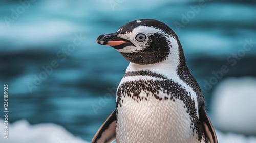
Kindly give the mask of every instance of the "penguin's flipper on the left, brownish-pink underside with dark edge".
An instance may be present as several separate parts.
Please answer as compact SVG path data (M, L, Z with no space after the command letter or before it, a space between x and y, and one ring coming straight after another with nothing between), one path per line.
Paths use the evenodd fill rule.
M91 143L108 143L116 139L116 110L101 125Z

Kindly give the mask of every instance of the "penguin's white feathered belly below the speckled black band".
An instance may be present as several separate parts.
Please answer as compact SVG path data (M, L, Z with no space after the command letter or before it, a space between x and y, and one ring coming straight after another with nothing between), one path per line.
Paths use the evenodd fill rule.
M116 142L198 142L183 100L141 90L119 94ZM173 93L174 94L174 93Z

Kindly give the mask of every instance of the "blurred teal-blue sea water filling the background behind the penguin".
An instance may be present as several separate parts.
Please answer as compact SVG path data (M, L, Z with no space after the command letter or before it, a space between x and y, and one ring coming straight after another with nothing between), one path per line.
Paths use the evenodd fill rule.
M110 3L116 6L111 6ZM56 130L52 130L61 132L52 136L53 142L60 142L58 139L62 139L62 136L71 138L73 142L75 140L72 138L90 141L115 109L116 87L129 64L112 47L96 44L97 37L103 33L115 32L129 21L152 18L166 23L178 35L188 68L203 90L207 112L210 117L215 115L211 120L219 129L219 136L223 138L231 134L232 137L242 136L239 139L247 140L244 142L249 142L248 138L251 142L255 142L253 136L256 132L249 127L243 131L229 128L236 126L240 120L232 122L233 124L227 125L224 129L221 128L226 125L225 121L228 123L226 120L228 117L225 115L237 114L238 111L232 110L232 106L237 105L243 109L256 101L256 94L252 92L253 86L252 90L246 86L239 92L224 90L236 91L238 88L237 84L232 86L225 80L243 85L251 83L251 80L255 81L255 1L205 1L203 6L200 5L201 7L199 1L185 0L139 2L38 0L29 4L27 3L28 7L22 11L21 7L24 6L19 1L0 2L0 85L8 84L9 87L8 122L14 125L15 121L20 123L22 126L19 127L25 135L28 131L28 137L32 129L25 129L31 126L38 128L38 140L47 138L48 134L45 136L42 134L51 129L39 130L40 127L36 125L51 123L47 124L49 128L56 127ZM193 7L200 9L194 12ZM17 12L17 10L20 14L12 15L13 11ZM187 14L186 17L189 18L184 23L183 15ZM5 17L12 18L12 21L6 22ZM177 28L175 23L182 24L182 21L182 27ZM75 46L74 51L64 54L62 51L73 43L77 35L86 38L80 39L81 43ZM247 49L244 49L244 45ZM45 71L42 67L50 66L53 61L57 62L58 67L53 68L45 79L38 82L36 77L40 77L40 73ZM219 73L223 66L228 71L222 72L222 76L216 76L214 73ZM249 79L244 79L245 76ZM234 79L238 81L233 81ZM227 88L218 88L218 85L225 87L225 83ZM30 91L28 85L32 84L35 86ZM3 88L0 87L1 92ZM234 93L236 98L216 99L216 92L223 93L223 96ZM251 94L246 98L250 104L246 100L237 102L237 99L244 99L244 94ZM0 98L2 113L3 99L2 96ZM216 102L218 99L222 102ZM238 104L225 106L227 103L236 102ZM226 109L225 112L216 114L215 111L221 110L218 107ZM245 108L246 110L239 112L247 113L241 115L244 118L234 117L240 117L241 123L254 127L255 122L244 120L254 118L253 121L256 121L256 117L252 114L256 108L250 107L252 108ZM3 115L0 118L4 119ZM16 132L18 131L11 130L10 127L10 138L12 133L14 135ZM22 142L22 138L14 142ZM225 140L225 142L230 141Z

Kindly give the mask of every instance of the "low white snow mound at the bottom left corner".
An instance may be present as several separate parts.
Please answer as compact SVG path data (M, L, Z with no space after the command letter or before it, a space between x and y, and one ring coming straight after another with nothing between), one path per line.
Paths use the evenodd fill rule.
M0 128L3 132L4 120L0 120ZM4 134L0 137L2 143L87 143L79 137L75 137L65 128L53 123L40 123L31 125L26 120L8 123L8 139Z

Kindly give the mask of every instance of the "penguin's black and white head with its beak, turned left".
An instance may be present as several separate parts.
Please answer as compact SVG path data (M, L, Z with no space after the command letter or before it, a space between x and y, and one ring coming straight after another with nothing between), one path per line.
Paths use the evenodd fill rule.
M96 42L114 47L126 60L141 65L159 63L168 57L177 61L179 56L172 57L172 53L182 50L174 31L154 19L131 21L117 32L100 35Z

